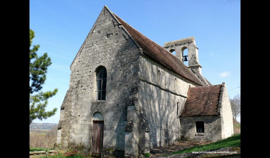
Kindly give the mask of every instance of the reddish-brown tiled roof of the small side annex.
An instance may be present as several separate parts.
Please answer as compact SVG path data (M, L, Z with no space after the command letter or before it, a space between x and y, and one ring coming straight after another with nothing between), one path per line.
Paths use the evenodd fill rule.
M217 115L222 85L190 87L180 116Z

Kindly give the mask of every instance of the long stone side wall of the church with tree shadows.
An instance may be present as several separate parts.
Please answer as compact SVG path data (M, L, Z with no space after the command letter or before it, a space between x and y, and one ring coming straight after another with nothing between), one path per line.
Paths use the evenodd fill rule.
M160 77L158 77L158 70L160 70ZM149 152L149 148L170 145L180 139L178 115L187 98L188 87L196 84L183 79L144 55L140 56L139 77L137 106L140 112L140 140L142 140L139 151L145 153ZM142 116L145 117L144 120Z

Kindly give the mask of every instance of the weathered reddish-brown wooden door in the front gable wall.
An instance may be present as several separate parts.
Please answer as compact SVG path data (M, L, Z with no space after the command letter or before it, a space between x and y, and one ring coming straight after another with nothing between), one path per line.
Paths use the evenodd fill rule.
M92 156L100 156L103 148L104 121L93 121Z

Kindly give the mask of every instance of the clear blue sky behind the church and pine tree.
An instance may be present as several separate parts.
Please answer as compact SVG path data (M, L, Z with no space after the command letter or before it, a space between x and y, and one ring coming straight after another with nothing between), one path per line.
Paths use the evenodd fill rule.
M56 115L33 122L58 123L70 64L104 5L161 46L195 36L204 77L214 85L226 82L231 98L240 94L240 2L226 1L30 0L33 44L40 45L38 55L47 52L52 59L43 91L58 88L47 106L47 110L58 108Z

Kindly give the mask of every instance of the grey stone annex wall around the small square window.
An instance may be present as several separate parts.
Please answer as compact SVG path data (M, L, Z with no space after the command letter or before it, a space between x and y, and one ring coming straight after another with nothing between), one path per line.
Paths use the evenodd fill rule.
M196 133L196 121L204 122L204 133ZM182 141L217 141L222 139L220 116L180 117Z

